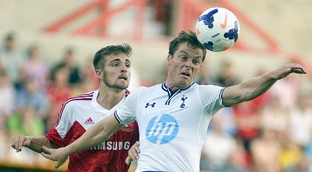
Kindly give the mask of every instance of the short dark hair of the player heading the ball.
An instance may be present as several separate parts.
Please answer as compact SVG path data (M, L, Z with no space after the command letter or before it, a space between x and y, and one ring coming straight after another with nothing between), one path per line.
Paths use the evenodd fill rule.
M200 41L198 41L195 32L192 32L191 30L189 30L189 33L182 30L179 35L169 43L169 55L173 55L177 50L177 47L184 42L187 42L187 45L192 48L200 48L202 50L202 61L205 60L207 49L202 46Z

